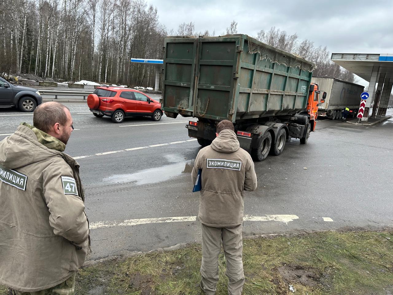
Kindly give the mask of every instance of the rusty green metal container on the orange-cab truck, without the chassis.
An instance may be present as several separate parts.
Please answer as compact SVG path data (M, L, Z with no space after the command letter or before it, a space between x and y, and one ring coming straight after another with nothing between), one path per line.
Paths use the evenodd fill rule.
M163 49L167 116L236 122L306 107L315 65L247 35L167 37Z

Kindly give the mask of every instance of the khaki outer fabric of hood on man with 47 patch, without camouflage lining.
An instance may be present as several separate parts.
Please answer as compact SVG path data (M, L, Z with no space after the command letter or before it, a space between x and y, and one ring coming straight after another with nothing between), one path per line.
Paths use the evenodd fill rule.
M7 169L21 168L56 156L64 158L63 155L41 144L26 125L19 125L13 135L0 142L0 165Z

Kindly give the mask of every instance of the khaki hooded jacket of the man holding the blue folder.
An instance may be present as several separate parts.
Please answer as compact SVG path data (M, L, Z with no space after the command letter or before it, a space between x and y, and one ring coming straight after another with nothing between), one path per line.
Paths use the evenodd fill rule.
M210 146L196 156L192 181L202 169L198 218L210 227L235 227L243 223L243 190L257 188L257 175L249 153L236 134L222 130Z

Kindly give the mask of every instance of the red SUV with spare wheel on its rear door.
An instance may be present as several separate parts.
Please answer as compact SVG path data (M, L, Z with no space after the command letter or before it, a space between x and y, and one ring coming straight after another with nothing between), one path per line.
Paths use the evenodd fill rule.
M153 121L162 117L161 103L138 90L123 87L97 87L87 97L87 105L94 116L109 116L115 123L123 122L125 117L149 116Z

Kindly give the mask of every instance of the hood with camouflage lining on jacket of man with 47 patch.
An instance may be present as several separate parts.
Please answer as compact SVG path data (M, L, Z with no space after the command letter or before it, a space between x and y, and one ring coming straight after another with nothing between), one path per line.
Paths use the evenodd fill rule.
M17 169L51 157L63 157L65 144L57 138L27 124L21 123L15 133L0 142L0 165Z

